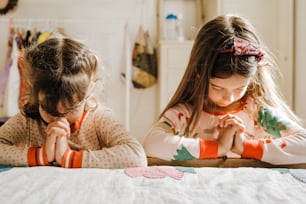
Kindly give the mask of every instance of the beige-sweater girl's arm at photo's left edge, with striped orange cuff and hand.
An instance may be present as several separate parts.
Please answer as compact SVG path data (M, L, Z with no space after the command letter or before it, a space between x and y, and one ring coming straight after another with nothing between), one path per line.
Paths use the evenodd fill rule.
M40 126L39 123L22 114L10 118L0 127L0 164L9 166L50 165L55 161L57 136L42 135L44 131L44 126Z

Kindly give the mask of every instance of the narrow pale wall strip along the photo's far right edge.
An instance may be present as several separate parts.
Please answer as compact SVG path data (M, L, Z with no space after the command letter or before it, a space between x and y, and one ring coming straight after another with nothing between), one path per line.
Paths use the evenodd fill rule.
M306 1L295 1L295 110L296 113L306 119L306 93L305 93L305 57L306 57ZM306 122L304 122L306 127Z

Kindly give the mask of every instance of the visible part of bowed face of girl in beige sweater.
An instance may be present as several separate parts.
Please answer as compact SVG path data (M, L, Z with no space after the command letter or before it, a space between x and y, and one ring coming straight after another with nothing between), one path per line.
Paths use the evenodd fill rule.
M39 94L38 100L44 100L44 96L42 94ZM53 116L52 114L46 112L41 105L39 105L39 114L41 118L48 124L57 121L61 118L66 118L69 124L73 124L82 117L84 107L85 100L81 101L74 109L69 109L69 106L64 106L63 102L60 101L57 104L57 111L61 114L61 116Z

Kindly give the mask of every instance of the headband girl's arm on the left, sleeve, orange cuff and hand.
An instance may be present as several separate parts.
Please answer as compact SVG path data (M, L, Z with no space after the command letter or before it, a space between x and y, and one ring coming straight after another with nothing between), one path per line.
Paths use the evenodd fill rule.
M217 158L230 150L233 140L230 131L222 132L224 137L220 136L219 141L198 138L196 133L185 135L184 129L190 112L188 106L178 105L165 113L144 140L147 156L168 161L184 161Z

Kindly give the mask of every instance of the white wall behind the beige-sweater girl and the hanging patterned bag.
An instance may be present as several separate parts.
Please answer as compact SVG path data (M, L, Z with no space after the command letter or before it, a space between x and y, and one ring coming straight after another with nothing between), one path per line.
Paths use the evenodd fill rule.
M127 35L131 51L142 24L155 41L155 8L155 0L19 0L17 10L0 16L0 70L4 66L8 18L13 18L16 27L51 31L64 27L68 35L85 42L102 60L103 102L125 124L126 84L120 78L127 64L124 39ZM130 131L142 141L156 119L156 85L144 90L131 89L130 98Z

